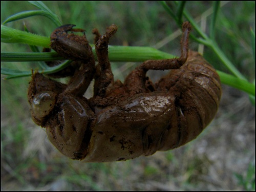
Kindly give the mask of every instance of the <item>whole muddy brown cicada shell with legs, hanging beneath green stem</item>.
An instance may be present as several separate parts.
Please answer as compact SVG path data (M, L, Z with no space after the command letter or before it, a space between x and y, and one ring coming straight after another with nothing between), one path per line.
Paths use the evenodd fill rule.
M191 25L183 23L181 56L147 60L124 83L114 81L108 58L115 25L95 34L98 65L86 36L74 25L57 28L51 47L79 63L68 84L32 75L28 98L33 120L64 155L85 162L126 160L166 151L195 139L214 118L220 98L220 78L197 52L188 51ZM148 70L169 70L153 83ZM92 79L94 96L83 97Z

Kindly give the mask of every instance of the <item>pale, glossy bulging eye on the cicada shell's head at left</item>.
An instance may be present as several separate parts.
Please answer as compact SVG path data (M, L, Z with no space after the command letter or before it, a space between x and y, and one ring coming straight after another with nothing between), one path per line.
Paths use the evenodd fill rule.
M32 111L37 118L47 116L52 109L56 101L56 94L52 91L45 91L35 95L32 101Z

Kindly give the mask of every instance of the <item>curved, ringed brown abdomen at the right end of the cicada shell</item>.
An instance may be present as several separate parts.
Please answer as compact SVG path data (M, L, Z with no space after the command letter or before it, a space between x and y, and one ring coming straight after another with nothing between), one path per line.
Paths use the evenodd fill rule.
M174 120L170 119L163 135L161 151L195 139L217 113L222 93L220 78L197 52L189 51L186 63L160 79L157 86L158 91L168 91L175 97Z

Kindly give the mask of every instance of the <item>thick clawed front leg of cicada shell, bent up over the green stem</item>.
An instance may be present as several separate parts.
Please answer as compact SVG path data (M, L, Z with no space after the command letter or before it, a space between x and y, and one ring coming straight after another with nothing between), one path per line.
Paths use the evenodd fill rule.
M83 29L72 29L74 26L65 25L54 30L51 34L51 48L61 56L79 63L80 68L72 76L65 93L81 96L94 77L95 60L86 35L68 33L84 32Z

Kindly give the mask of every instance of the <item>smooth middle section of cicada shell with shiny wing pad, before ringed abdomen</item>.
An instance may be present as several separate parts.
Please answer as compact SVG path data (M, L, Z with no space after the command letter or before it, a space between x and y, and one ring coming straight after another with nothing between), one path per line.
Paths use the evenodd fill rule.
M155 153L169 124L173 99L165 92L138 94L96 110L100 112L96 114L88 154L83 161L118 161ZM170 145L176 146L177 140L170 139Z

